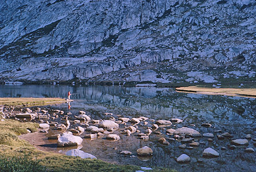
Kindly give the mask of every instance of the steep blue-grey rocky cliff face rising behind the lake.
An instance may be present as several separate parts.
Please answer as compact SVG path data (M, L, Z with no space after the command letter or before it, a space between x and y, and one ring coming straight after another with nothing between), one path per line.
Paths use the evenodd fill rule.
M254 0L0 4L2 81L255 80Z

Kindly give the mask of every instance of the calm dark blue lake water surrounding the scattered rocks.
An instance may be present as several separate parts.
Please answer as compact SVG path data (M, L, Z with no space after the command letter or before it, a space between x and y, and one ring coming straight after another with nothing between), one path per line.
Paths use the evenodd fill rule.
M233 139L243 139L246 134L256 135L256 100L254 98L227 97L222 95L201 95L176 93L170 88L156 87L122 87L122 86L57 86L57 85L31 85L31 86L5 86L0 85L0 97L67 97L68 91L75 93L71 98L71 110L68 104L53 104L46 108L61 109L66 113L77 115L80 110L86 111L93 119L108 119L105 112L112 112L117 119L117 114L123 117L133 118L146 116L150 119L171 118L182 119L183 122L167 128L191 127L201 134L229 132ZM71 119L72 119L71 115ZM211 128L201 127L202 123L212 124ZM143 132L148 126L138 125ZM195 124L195 126L191 126ZM77 124L76 124L77 125ZM120 129L124 125L120 124ZM72 128L72 127L71 127ZM119 131L116 131L117 133ZM197 141L205 141L194 149L179 149L179 141L170 141L170 145L162 145L158 142L160 137L167 136L165 129L158 129L162 133L153 133L150 140L143 141L135 135L126 136L119 134L121 140L111 142L105 139L84 139L81 150L95 155L98 159L139 166L162 166L170 167L179 171L254 171L255 153L245 153L245 148L254 148L253 141L249 140L249 146L237 147L234 150L221 150L221 146L228 148L230 140L218 140L214 133L213 141L201 137ZM56 132L56 131L51 131ZM82 136L82 135L81 135ZM142 161L137 157L136 150L144 145L150 146L154 156L148 161ZM54 147L54 146L53 146ZM203 150L211 147L220 153L218 158L202 157ZM115 148L115 149L114 149ZM51 148L57 152L65 152L67 149ZM130 150L135 157L119 154L122 150ZM181 165L176 162L176 157L185 153L191 157L191 162ZM202 160L203 162L197 162Z

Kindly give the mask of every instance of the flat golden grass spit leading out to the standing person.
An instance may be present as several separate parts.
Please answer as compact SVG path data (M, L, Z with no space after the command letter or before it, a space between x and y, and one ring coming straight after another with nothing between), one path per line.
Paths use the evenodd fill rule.
M61 98L0 98L0 105L4 106L41 106L51 103L64 103Z

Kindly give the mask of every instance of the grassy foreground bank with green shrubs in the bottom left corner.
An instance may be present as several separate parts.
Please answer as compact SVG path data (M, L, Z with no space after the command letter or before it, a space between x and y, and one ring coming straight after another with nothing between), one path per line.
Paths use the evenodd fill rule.
M0 121L0 171L136 171L133 165L114 165L101 160L82 159L51 152L42 152L19 135L37 131L36 123L15 120ZM154 171L175 171L154 169Z

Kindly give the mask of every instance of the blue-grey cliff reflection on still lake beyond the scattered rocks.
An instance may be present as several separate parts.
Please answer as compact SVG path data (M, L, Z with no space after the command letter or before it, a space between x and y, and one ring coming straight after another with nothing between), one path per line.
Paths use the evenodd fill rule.
M97 110L126 108L151 118L212 120L218 123L251 124L255 119L255 99L176 93L170 88L122 86L0 86L0 97L67 97L70 90L72 108ZM89 106L88 106L89 105ZM93 105L93 106L92 106ZM122 114L122 112L119 112ZM131 113L133 114L133 113Z

